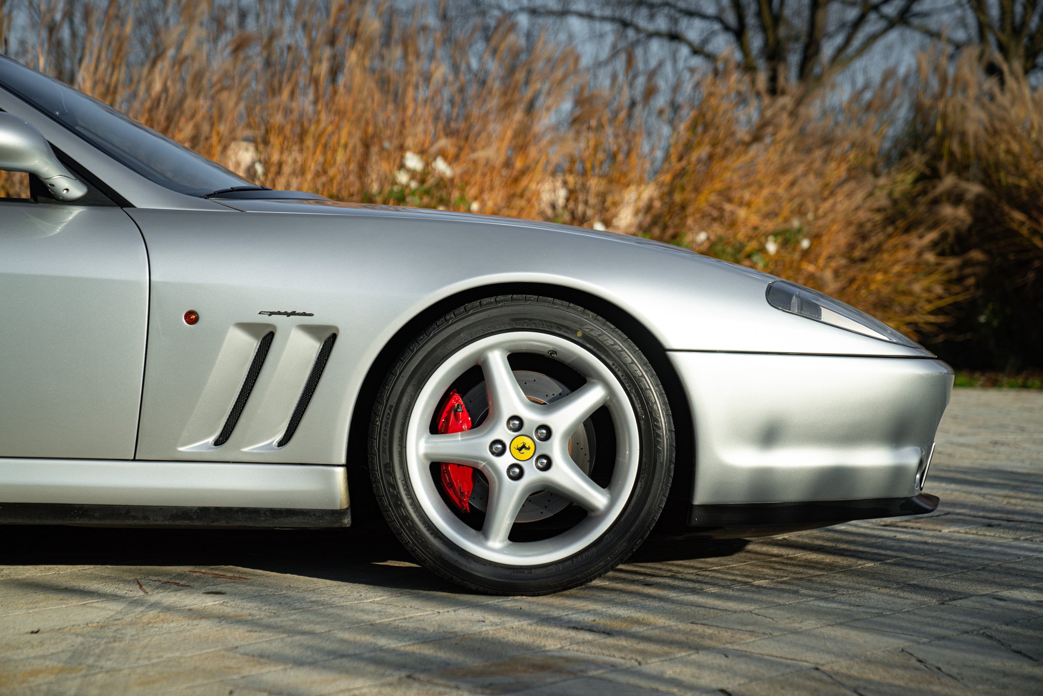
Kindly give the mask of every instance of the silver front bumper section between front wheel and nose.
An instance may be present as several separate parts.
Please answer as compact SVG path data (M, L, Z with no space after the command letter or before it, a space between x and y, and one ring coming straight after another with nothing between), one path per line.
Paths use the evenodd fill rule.
M695 506L911 499L952 392L926 358L671 352Z

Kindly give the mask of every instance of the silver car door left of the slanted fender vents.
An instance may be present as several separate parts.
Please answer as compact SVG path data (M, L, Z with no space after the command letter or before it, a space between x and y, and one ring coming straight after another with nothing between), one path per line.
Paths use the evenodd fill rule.
M0 198L0 457L132 459L148 259L130 217Z

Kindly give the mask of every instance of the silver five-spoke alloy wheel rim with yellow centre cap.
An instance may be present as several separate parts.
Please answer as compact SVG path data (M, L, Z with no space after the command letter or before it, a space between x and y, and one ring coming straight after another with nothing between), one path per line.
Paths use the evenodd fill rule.
M536 403L525 395L508 356L553 356L586 383L559 401ZM432 434L432 414L446 389L467 369L481 366L489 412L477 428ZM615 462L608 487L598 485L574 461L569 438L591 414L607 407L615 433ZM520 421L520 424L518 424ZM520 427L517 427L520 425ZM517 427L516 429L513 429ZM541 439L550 430L550 437ZM537 432L538 430L538 432ZM535 451L515 457L518 438ZM612 371L590 352L558 336L510 332L488 336L458 351L423 385L409 418L407 471L417 501L438 530L461 549L493 562L535 566L560 560L589 546L615 521L637 476L638 431L627 393ZM496 456L496 442L508 443ZM478 469L489 483L481 530L468 526L445 503L431 464L452 462ZM536 542L512 542L511 529L526 500L550 490L579 505L586 515L572 529Z

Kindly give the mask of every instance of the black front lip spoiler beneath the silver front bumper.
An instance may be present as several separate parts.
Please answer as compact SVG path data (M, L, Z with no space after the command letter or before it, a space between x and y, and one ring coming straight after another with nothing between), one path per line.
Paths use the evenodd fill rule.
M938 508L939 502L938 496L920 494L913 498L693 505L688 510L688 525L717 528L756 527L760 525L830 525L852 520L926 514L933 512Z

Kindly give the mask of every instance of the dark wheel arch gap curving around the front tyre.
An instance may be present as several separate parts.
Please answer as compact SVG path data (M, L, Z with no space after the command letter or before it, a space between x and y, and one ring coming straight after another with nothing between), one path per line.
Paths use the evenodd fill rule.
M673 411L677 438L674 482L659 524L670 526L674 526L678 522L684 524L692 502L692 486L695 480L695 428L693 427L687 395L670 362L666 349L640 320L618 305L585 290L549 283L498 283L462 290L443 297L418 312L384 344L377 358L370 363L351 409L346 461L348 495L354 510L353 522L368 521L373 515L381 518L373 500L367 469L371 413L368 409L360 408L359 405L375 402L384 378L393 366L395 359L423 329L447 312L467 303L505 294L541 295L579 305L615 325L637 344L662 382ZM366 493L359 496L361 490Z

